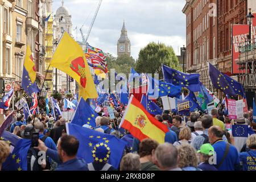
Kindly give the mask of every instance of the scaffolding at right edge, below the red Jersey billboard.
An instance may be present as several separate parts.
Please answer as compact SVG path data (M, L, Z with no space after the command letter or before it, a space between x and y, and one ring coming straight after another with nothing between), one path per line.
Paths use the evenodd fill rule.
M256 39L240 43L240 56L236 63L239 65L238 81L246 92L256 91Z

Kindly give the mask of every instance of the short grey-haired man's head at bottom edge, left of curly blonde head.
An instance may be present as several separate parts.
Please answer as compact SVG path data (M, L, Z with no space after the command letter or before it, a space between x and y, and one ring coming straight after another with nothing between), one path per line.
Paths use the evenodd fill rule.
M177 167L177 148L172 144L160 144L153 153L156 166L161 171L181 171L181 168Z

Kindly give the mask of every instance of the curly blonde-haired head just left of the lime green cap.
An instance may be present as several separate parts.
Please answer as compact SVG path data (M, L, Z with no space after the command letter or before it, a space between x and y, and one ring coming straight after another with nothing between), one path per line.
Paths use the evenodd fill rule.
M183 171L201 171L197 167L197 153L195 148L190 144L183 143L177 146L178 151L178 167Z

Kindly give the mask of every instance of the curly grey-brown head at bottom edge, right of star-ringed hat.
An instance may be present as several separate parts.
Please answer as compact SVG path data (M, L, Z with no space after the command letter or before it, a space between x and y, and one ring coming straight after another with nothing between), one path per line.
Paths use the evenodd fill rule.
M141 171L141 162L139 162L139 155L129 153L123 156L120 163L120 171Z

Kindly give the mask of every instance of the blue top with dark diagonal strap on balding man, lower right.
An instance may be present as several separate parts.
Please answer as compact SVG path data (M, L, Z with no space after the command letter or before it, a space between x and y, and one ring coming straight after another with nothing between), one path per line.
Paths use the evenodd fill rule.
M225 154L226 142L224 140L218 140L213 145L214 151L217 155L217 164L220 164L222 157ZM228 155L221 166L218 168L219 171L235 171L240 165L237 148L230 145ZM217 167L217 165L215 165Z

